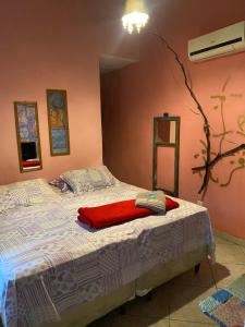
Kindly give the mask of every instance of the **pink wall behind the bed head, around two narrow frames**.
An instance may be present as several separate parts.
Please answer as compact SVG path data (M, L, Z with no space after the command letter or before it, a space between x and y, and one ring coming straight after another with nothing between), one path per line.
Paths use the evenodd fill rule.
M0 184L102 162L99 56L138 53L114 20L120 10L110 0L1 1ZM68 90L70 156L50 157L47 88ZM14 100L38 102L41 171L19 171Z

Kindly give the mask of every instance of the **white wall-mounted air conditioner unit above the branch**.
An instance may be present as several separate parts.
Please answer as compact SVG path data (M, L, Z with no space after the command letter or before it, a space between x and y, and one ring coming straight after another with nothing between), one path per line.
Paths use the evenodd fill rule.
M188 41L191 61L203 61L242 51L245 51L245 22L233 24Z

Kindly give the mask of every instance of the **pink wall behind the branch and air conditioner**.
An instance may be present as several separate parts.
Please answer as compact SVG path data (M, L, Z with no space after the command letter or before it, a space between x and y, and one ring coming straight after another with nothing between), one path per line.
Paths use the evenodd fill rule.
M181 55L212 131L221 131L220 110L213 110L219 101L210 98L213 95L226 96L226 126L237 130L237 117L245 114L245 52L194 64L187 59L187 40L243 21L244 0L206 0L198 4L196 0L167 0L161 1L156 12L151 24L158 21L159 29ZM200 152L199 140L204 140L201 120L191 111L195 105L172 55L152 36L140 36L139 63L103 76L102 105L105 162L119 179L144 187L151 187L152 118L166 111L181 116L180 197L199 199L200 178L193 175L191 168L200 164L194 155ZM236 134L228 140L245 141ZM216 138L212 142L217 149ZM224 142L223 149L232 146ZM220 182L228 180L234 167L231 160L236 162L237 156L225 159L213 170ZM205 205L215 228L245 239L244 179L245 169L234 173L228 187L211 182Z

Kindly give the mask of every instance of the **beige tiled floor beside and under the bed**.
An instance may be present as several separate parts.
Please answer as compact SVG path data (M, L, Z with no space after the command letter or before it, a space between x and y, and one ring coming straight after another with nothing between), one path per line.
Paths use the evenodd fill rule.
M199 310L198 303L217 289L245 274L245 247L216 238L217 264L201 263L152 291L152 300L135 299L126 304L126 314L119 310L93 323L89 327L209 327L218 326Z

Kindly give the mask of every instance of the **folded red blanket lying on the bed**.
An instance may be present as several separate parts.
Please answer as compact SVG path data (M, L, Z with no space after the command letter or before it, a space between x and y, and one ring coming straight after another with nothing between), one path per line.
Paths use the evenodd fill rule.
M179 207L179 203L166 197L166 210ZM156 213L147 208L135 206L135 199L111 203L108 205L90 208L79 208L78 220L94 228L109 227L123 223L137 218L155 215Z

